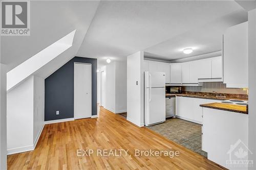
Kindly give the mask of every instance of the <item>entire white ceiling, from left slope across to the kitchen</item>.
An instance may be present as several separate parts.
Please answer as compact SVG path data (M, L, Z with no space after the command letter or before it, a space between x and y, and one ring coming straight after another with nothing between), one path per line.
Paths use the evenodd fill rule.
M234 1L31 1L31 35L1 37L1 63L9 69L77 30L73 47L45 65L45 77L74 56L124 60L138 51L157 59L220 50L225 28L247 19Z

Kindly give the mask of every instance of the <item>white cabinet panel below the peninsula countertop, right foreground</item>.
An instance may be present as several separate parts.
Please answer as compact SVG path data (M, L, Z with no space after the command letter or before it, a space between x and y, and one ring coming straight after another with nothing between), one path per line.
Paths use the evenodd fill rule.
M241 162L252 154L248 149L248 114L202 109L202 150L207 158L228 169L247 169Z

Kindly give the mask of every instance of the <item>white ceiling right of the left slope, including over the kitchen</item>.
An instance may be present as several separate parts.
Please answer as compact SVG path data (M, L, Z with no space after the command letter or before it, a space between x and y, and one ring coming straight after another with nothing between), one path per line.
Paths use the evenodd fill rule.
M233 14L242 16L229 21ZM212 52L220 50L224 28L244 18L234 1L101 1L77 55L105 65L140 50L168 60L184 57L177 51L186 46Z

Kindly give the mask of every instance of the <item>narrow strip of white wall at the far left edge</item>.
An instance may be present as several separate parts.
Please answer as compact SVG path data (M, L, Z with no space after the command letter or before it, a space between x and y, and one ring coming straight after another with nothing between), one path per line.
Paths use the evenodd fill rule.
M7 169L6 65L0 64L0 169Z

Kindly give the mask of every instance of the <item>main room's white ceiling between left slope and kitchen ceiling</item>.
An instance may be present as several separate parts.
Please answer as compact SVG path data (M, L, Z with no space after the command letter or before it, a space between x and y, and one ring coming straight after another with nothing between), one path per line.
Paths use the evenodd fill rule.
M101 1L77 55L105 65L241 10L234 1Z

